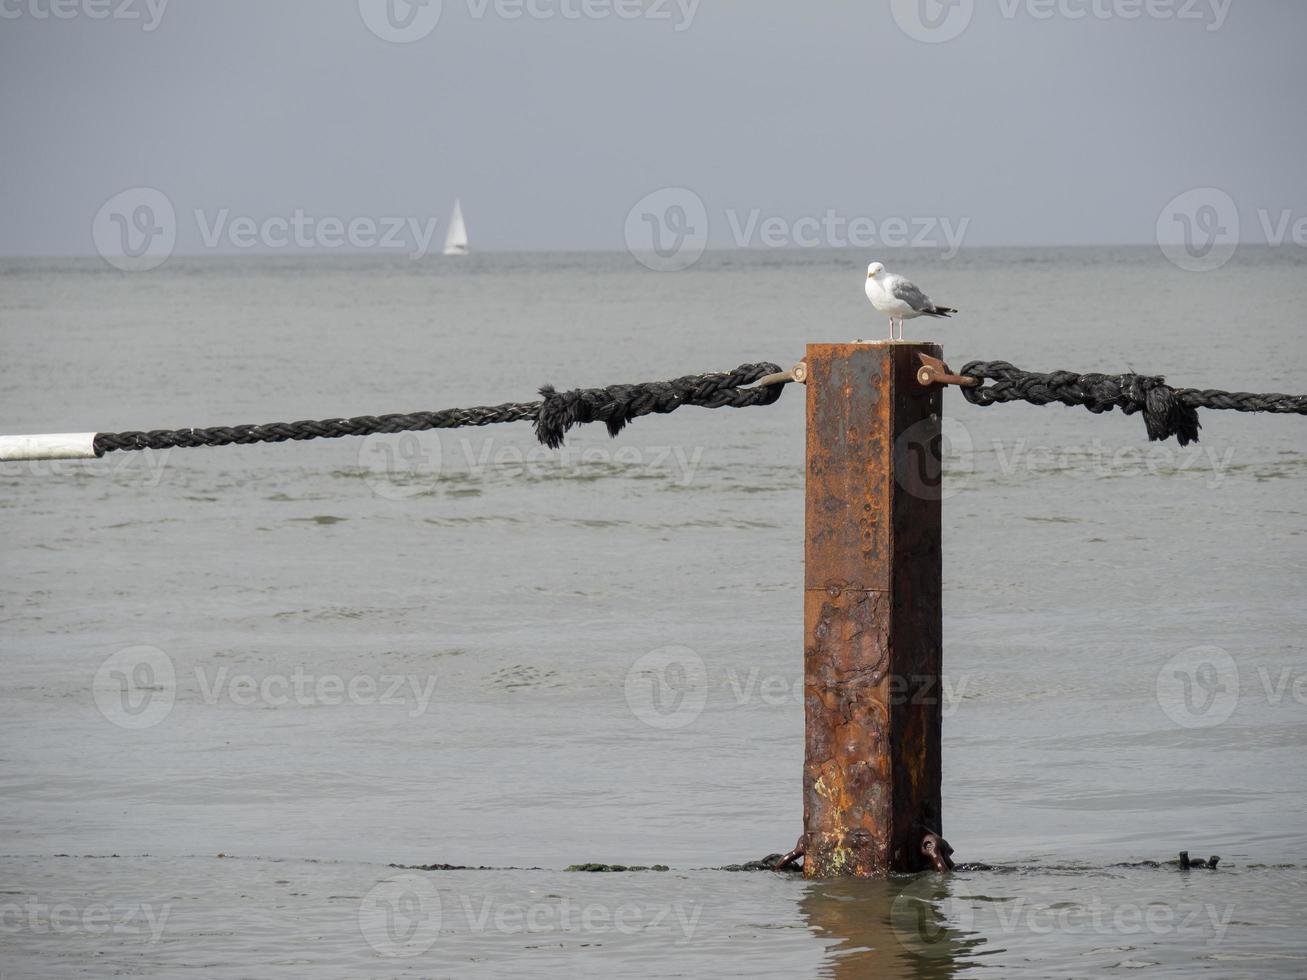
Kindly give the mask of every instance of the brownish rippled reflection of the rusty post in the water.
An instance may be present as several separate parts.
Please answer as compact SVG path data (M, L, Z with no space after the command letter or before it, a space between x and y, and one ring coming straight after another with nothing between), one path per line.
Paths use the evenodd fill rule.
M834 977L951 977L984 942L966 930L967 907L950 879L933 872L810 882L799 908L817 937L831 942Z

